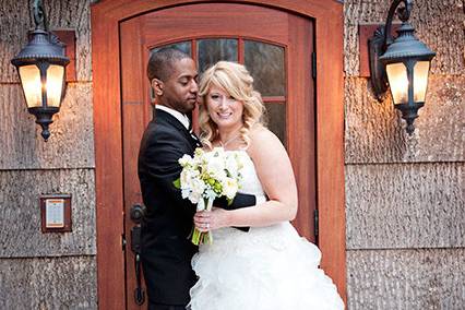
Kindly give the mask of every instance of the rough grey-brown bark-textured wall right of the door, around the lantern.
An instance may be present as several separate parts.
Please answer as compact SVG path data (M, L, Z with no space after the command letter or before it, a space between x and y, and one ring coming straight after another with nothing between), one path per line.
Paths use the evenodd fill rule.
M414 1L412 23L437 57L412 136L359 76L358 26L384 23L391 2L344 2L348 308L463 309L464 1Z

